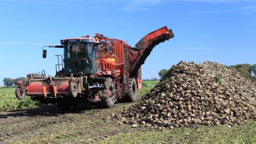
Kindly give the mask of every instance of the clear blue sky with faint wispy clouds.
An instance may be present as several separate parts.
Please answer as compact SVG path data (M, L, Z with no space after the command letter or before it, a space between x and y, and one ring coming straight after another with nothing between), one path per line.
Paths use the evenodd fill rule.
M102 33L134 46L163 26L175 37L157 45L142 68L143 79L183 61L225 65L256 63L255 0L0 0L0 85L45 70L55 75L60 39Z

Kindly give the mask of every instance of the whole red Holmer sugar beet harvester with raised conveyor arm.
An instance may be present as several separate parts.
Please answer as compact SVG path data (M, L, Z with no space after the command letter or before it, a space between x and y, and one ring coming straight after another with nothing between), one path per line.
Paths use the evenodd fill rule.
M63 60L57 55L61 62L56 65L56 75L46 77L44 70L39 75L28 74L27 80L17 82L16 97L21 100L28 95L43 103L57 103L62 110L74 109L85 101L103 108L113 107L116 100L136 101L137 89L142 87L141 65L157 44L174 37L172 29L165 26L131 47L122 40L95 35L47 46L64 50ZM46 53L43 50L43 58Z

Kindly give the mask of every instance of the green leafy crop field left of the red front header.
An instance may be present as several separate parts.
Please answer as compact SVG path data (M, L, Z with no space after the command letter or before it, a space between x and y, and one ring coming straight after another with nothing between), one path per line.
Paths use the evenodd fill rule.
M23 100L18 100L15 96L15 89L16 88L0 89L0 112L18 108L31 108L39 105L39 102L33 101L28 96Z

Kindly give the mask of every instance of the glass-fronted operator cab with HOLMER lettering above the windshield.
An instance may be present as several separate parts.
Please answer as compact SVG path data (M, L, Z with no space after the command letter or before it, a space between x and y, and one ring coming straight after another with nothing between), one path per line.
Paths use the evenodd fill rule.
M97 70L96 56L99 52L99 44L93 38L64 39L60 43L64 47L64 73L83 72L83 74L93 74ZM99 66L98 66L99 68Z

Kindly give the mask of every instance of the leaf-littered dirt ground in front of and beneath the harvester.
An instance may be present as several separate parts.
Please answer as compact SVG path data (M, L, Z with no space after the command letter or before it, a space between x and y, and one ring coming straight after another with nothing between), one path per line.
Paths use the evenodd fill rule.
M75 111L67 112L60 111L56 105L44 105L1 113L0 143L92 143L119 132L132 132L135 129L129 125L118 125L117 120L107 119L112 112L132 104L117 103L109 109L80 105Z

